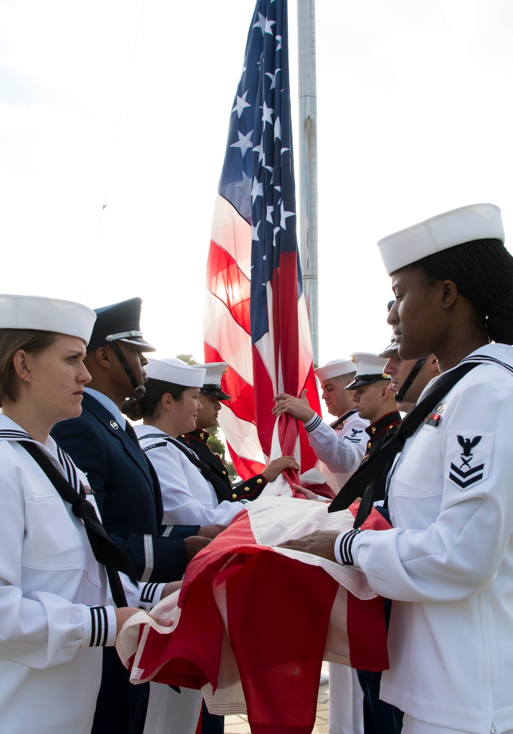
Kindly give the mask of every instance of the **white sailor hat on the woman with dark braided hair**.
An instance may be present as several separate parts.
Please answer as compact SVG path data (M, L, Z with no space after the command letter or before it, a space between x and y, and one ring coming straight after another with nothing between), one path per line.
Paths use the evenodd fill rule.
M427 255L476 239L504 242L501 209L495 204L472 204L446 211L383 237L377 247L386 272L391 275Z

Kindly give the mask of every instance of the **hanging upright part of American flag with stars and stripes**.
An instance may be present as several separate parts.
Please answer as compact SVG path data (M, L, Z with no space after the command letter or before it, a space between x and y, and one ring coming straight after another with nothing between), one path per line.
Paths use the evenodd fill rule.
M231 112L207 262L204 358L224 361L219 415L243 479L268 459L315 465L303 427L271 414L307 388L320 413L296 236L287 0L258 0ZM297 477L296 477L297 481Z

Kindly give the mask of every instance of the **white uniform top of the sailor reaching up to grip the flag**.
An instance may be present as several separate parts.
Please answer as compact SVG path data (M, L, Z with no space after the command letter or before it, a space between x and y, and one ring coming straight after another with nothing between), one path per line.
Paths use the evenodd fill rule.
M365 429L369 421L360 418L356 411L341 429L333 430L316 414L303 426L316 456L333 473L336 486L331 488L338 492L361 465L367 447ZM319 468L322 471L322 466Z

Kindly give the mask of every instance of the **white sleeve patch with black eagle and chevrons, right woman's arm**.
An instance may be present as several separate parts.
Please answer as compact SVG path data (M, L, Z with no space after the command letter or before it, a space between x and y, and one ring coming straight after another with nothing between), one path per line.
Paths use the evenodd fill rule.
M449 431L447 479L460 490L487 479L492 454L492 433Z

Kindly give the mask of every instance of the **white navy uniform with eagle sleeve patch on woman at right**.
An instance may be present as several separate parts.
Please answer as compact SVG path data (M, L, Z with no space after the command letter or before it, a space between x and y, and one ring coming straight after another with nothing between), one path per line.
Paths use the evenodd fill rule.
M420 722L500 734L513 730L513 374L494 360L513 367L513 349L472 355L488 361L391 469L394 527L356 534L351 553L394 600L380 697Z

